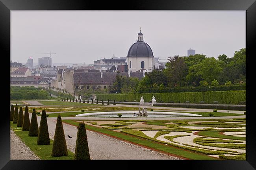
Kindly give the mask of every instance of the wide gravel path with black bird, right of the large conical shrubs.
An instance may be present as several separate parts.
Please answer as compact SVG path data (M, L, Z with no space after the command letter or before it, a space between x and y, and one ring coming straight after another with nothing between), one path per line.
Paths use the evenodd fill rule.
M30 113L30 120L32 114ZM37 116L38 125L40 116ZM47 118L50 139L54 139L56 118ZM63 123L67 148L75 151L77 127ZM87 130L89 152L92 160L182 160L141 146L124 142ZM71 136L69 139L67 135Z

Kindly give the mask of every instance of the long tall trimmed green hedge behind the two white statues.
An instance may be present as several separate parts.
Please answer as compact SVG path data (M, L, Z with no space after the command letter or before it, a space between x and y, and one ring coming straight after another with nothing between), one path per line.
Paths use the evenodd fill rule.
M97 94L97 97L108 101L111 100L128 100L133 102L139 101L143 96L145 102L152 100L155 96L156 101L160 103L161 100L168 103L200 103L205 101L206 104L213 104L213 101L218 101L219 104L239 104L241 101L246 101L246 91L214 91L214 92L179 92L179 93L144 93L144 94Z

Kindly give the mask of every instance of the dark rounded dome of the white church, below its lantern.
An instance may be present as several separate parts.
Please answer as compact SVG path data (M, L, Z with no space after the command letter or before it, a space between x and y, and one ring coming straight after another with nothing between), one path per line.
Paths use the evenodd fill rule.
M135 42L130 47L127 57L154 57L150 46L146 42Z

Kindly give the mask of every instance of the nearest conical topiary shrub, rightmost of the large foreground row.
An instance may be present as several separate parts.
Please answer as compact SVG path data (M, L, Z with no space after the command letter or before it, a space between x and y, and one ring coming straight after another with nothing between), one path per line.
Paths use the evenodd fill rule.
M83 122L80 122L78 125L74 159L75 160L91 160L88 141L87 141L87 135L85 130L85 124Z

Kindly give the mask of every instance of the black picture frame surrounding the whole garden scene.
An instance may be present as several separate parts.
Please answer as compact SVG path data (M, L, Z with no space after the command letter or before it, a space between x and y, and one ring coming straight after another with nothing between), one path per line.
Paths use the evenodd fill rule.
M247 48L247 158L246 161L10 161L10 144L9 144L9 109L7 105L8 92L2 95L4 111L1 114L1 154L0 168L7 169L52 169L54 164L63 166L64 169L72 169L77 166L89 168L89 165L95 166L109 165L115 168L147 168L152 165L161 168L184 168L197 170L255 170L256 169L256 125L253 119L253 64L255 63L255 42L256 42L256 2L255 0L130 0L130 1L93 1L93 0L0 0L0 49L2 59L6 59L2 69L6 70L8 56L10 56L10 10L246 10L246 48ZM9 75L1 77L0 87L2 91L9 89ZM10 99L10 98L9 98ZM115 166L121 163L121 166ZM129 166L130 165L130 166ZM105 168L104 167L104 168ZM113 168L109 167L109 168Z

